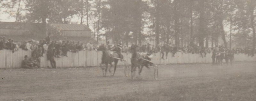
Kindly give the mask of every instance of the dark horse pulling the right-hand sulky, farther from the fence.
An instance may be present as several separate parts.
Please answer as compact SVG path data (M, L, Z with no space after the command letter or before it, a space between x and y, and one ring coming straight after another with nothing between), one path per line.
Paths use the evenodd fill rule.
M139 75L142 72L143 66L148 66L151 65L150 63L150 58L148 57L147 53L138 53L137 52L137 45L133 44L130 48L130 51L132 52L132 58L131 58L131 73L132 73L132 79L134 78L133 76L135 75L136 67L139 68Z

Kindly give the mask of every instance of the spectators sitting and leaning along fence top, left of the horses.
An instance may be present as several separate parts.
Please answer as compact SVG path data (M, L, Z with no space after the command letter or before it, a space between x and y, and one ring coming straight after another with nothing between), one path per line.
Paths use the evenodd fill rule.
M28 42L13 42L12 39L6 41L5 37L0 37L0 50L12 50L15 52L19 49L32 51L31 56L34 58L42 57L44 53L50 48L55 48L55 56L67 56L67 52L78 52L81 50L95 50L95 46L92 43L74 42L74 41L50 41L48 37L40 41L28 41Z

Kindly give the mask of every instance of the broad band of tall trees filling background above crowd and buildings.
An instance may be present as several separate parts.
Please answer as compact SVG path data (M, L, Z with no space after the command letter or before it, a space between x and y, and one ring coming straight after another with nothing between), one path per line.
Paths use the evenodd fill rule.
M25 14L17 10L20 1ZM180 47L231 47L233 42L255 49L255 0L6 0L0 4L6 8L1 12L12 11L18 22L45 26L75 19L90 26L97 40L142 44L153 39L155 44Z

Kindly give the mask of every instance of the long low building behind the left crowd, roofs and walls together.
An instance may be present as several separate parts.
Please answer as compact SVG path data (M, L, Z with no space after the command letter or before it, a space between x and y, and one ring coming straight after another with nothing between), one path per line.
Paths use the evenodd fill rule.
M46 28L47 32L52 33L52 40L97 43L92 38L91 29L86 25L49 24ZM42 23L0 22L0 36L16 42L43 40L47 34L42 32Z

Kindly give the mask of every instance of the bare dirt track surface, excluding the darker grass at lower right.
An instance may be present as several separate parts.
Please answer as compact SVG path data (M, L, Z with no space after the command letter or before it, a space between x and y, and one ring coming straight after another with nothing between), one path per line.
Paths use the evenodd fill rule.
M100 68L65 69L5 69L0 70L0 100L92 100L99 97L117 97L127 93L155 91L189 83L207 83L234 79L256 73L256 63L238 62L233 66L211 64L182 64L159 66L159 80L154 70L143 68L140 79L125 77L118 67L115 76L102 76ZM113 72L113 68L112 68ZM136 71L138 75L138 70ZM232 77L228 79L233 79Z

